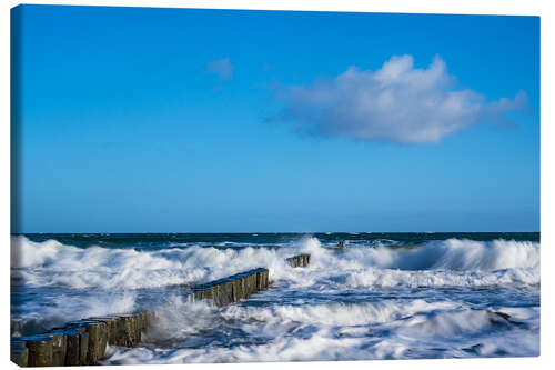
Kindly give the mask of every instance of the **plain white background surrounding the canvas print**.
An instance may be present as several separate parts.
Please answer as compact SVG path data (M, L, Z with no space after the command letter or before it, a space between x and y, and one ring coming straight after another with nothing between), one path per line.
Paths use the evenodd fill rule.
M32 3L44 4L82 4L82 6L127 6L127 7L165 7L165 8L220 8L220 9L269 9L269 10L333 10L333 11L369 11L369 12L411 12L411 13L458 13L458 14L514 14L514 16L541 16L542 30L542 349L539 358L524 359L464 359L464 360L396 360L396 361L351 361L351 362L287 362L287 363L233 363L233 364L182 364L163 366L164 369L554 369L555 364L555 334L554 334L554 202L553 189L553 153L554 153L554 129L553 129L553 83L555 60L553 57L553 29L554 11L553 1L526 0L526 1L502 1L502 0L382 0L382 1L355 1L355 0L282 0L282 1L248 1L248 0L213 0L213 1L180 1L180 0L119 0L119 1L32 1ZM0 120L0 216L1 216L1 241L0 263L2 271L0 278L0 353L1 363L9 363L9 317L10 317L10 8L19 4L17 1L6 1L0 14L1 28L1 120ZM552 266L553 264L553 266ZM17 368L9 363L10 368ZM152 369L160 366L133 366L118 367L118 369Z

